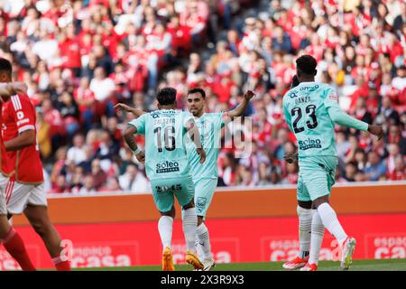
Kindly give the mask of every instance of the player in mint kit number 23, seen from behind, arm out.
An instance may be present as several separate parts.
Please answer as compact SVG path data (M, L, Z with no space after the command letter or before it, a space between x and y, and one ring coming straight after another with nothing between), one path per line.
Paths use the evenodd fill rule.
M381 126L368 125L348 116L338 106L336 91L315 82L317 61L310 55L296 60L299 84L283 97L285 119L297 138L299 180L298 215L300 220L300 255L283 265L286 269L316 271L324 228L337 238L342 248L341 268L352 263L355 238L348 237L328 203L335 182L337 151L334 126L353 127L383 137ZM287 157L288 162L292 158ZM311 210L314 208L315 210Z

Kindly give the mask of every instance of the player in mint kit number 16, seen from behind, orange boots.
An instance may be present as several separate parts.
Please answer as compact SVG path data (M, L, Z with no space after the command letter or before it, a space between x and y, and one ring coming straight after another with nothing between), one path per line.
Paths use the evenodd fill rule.
M186 262L195 269L203 264L195 255L198 216L194 205L194 184L190 175L189 156L185 139L193 138L198 163L205 162L206 152L201 147L198 128L189 113L177 110L176 89L160 89L157 94L159 110L128 123L124 138L136 158L145 163L145 171L151 181L152 195L161 212L158 229L163 253L162 269L173 271L171 237L175 217L174 196L182 207L182 228L186 239ZM134 134L145 135L145 153L135 144Z

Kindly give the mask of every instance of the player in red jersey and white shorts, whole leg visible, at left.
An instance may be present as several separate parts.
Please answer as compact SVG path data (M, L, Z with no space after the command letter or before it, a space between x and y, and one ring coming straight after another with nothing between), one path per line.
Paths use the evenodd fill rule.
M12 66L0 59L0 82L12 81ZM32 228L40 235L51 255L52 262L60 271L70 270L70 262L61 256L60 235L51 224L47 210L47 198L43 191L42 162L36 141L35 108L25 93L3 98L2 135L5 154L2 162L9 163L5 174L8 182L2 186L9 217L24 213ZM0 183L5 183L5 175Z

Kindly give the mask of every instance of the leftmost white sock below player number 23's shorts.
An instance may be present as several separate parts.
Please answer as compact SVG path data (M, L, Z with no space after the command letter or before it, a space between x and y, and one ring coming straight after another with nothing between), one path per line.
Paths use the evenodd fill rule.
M311 210L298 206L299 216L299 256L304 259L309 256L310 231L311 231Z

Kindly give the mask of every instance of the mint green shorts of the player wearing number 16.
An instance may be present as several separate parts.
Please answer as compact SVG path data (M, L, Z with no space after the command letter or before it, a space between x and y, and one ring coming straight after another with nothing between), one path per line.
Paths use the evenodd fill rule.
M175 196L181 207L189 204L195 195L195 187L191 176L175 179L152 180L152 196L156 208L161 212L170 211Z

